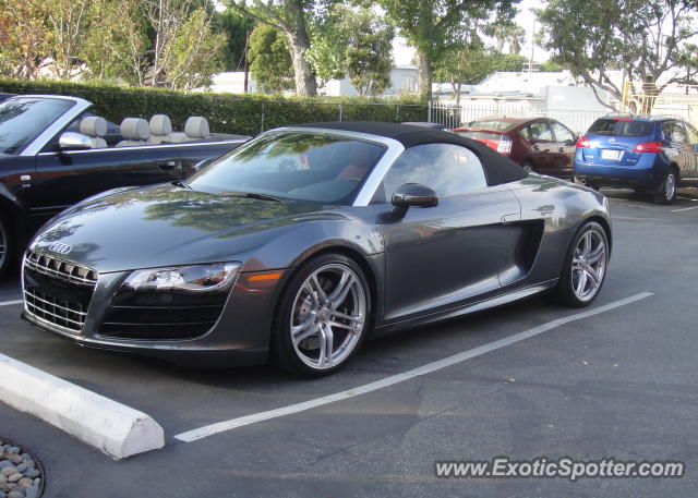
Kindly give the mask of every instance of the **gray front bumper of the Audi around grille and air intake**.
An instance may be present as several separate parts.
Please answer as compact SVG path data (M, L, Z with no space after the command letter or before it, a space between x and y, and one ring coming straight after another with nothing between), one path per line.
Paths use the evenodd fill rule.
M250 282L249 277L254 274L240 274L218 320L200 337L139 340L101 336L101 319L111 297L128 275L129 272L99 275L85 324L80 331L68 331L40 319L28 311L26 302L22 317L41 330L82 347L146 354L177 364L230 367L263 364L267 361L275 303L288 271L279 280L258 282Z

